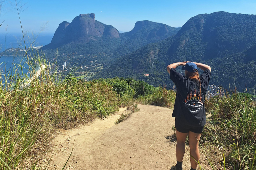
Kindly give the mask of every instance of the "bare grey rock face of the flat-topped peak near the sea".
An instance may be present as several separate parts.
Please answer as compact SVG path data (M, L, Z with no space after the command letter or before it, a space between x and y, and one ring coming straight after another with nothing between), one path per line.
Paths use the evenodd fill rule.
M70 42L89 42L98 37L119 38L119 32L111 25L95 20L95 14L80 14L71 23L62 22L50 44L44 49L57 48Z

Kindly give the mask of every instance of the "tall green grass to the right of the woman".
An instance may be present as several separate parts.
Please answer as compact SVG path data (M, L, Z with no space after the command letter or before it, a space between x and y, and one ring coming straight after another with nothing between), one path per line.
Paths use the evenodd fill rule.
M223 93L223 92L222 92ZM226 163L236 170L256 169L256 102L246 93L225 92L205 102L211 113L203 139L223 143L231 151Z

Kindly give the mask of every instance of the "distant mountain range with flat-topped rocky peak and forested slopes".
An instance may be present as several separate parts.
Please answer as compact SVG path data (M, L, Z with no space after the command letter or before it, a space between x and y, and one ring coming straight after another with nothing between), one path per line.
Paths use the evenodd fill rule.
M120 34L113 26L96 21L95 14L80 14L71 23L62 22L51 43L43 46L42 50L50 61L108 65L146 44L174 36L180 29L138 21L132 31Z

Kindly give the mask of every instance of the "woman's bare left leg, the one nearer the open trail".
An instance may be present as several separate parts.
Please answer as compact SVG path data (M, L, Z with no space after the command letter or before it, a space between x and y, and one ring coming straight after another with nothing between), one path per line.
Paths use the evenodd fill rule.
M185 141L188 133L182 133L176 130L177 145L176 145L176 159L182 162L185 153Z

